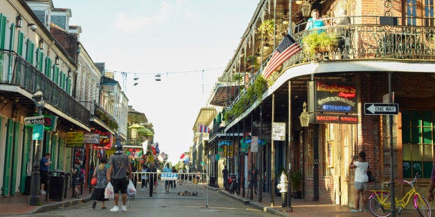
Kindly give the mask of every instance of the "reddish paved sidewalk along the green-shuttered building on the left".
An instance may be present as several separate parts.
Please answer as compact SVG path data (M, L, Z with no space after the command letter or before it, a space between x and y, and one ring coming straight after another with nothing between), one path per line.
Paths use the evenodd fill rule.
M62 201L48 200L46 201L45 195L38 194L39 206L28 205L28 195L16 194L15 196L0 198L0 216L14 216L21 214L36 214L43 211L56 209L57 207L69 207L76 205L80 202L86 202L91 198L89 193L89 187L83 187L83 194L80 198L71 198L72 189L69 188L66 194L66 198Z

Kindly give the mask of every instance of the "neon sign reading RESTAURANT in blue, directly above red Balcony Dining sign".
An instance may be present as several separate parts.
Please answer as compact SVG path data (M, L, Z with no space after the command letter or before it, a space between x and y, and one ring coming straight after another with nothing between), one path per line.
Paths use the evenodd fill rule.
M308 82L308 112L357 113L357 84L314 80Z

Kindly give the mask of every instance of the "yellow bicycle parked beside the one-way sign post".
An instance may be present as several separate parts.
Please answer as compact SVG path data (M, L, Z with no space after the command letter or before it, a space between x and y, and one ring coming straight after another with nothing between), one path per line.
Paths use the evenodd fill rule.
M405 209L408 205L409 201L411 201L411 197L414 198L414 208L417 209L420 216L431 216L431 210L429 206L429 202L427 202L426 198L418 194L416 189L414 188L414 183L417 180L418 174L411 182L407 180L398 180L399 183L407 183L411 185L411 189L403 196L401 200L394 198L396 200L396 210L398 213ZM384 190L371 190L371 196L369 198L369 207L370 211L375 216L390 216L391 215L391 197L390 191Z

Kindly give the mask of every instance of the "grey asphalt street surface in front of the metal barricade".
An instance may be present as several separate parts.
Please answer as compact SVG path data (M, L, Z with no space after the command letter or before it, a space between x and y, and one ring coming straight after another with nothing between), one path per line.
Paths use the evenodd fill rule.
M217 191L208 191L208 208L206 200L195 199L158 199L135 198L130 200L127 211L111 212L114 200L106 202L107 209L100 209L100 202L96 209L92 209L92 200L69 207L60 207L44 213L22 216L274 216L242 202L219 194ZM119 204L122 205L121 198ZM121 207L120 207L121 208Z

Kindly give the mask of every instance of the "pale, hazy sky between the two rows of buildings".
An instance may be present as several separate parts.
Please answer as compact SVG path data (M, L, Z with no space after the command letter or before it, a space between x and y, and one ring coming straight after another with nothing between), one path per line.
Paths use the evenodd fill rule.
M92 60L117 72L129 105L145 113L154 126L154 142L172 164L193 145L199 110L207 106L258 3L53 0L55 8L71 9L69 25L81 26L79 39Z

